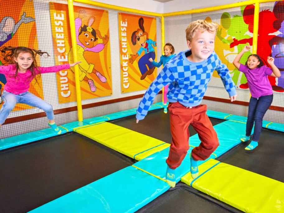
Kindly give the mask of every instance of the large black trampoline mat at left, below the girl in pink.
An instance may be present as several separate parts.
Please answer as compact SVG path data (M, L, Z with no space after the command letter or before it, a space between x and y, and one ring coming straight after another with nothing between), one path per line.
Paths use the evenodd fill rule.
M2 150L0 212L31 211L134 162L75 132Z

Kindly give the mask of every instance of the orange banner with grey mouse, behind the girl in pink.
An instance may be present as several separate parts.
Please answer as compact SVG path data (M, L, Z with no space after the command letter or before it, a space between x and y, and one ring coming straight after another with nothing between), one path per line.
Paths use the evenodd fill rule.
M13 8L11 10L11 8ZM25 46L38 50L37 34L35 27L34 4L30 0L2 1L0 7L0 48L3 46ZM42 50L44 51L44 50ZM0 64L6 65L2 56ZM39 57L36 57L38 66L40 66ZM6 78L0 74L1 92L6 84ZM43 99L41 78L35 79L30 83L29 91ZM13 111L32 108L25 104L17 104Z

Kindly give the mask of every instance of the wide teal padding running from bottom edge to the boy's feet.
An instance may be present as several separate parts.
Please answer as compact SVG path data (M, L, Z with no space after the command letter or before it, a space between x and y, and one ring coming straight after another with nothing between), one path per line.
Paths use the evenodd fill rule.
M129 166L30 212L135 212L168 189L167 182Z

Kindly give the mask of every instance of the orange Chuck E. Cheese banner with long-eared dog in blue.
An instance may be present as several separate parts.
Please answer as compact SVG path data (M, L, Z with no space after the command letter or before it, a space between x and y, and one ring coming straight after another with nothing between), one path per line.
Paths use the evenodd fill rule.
M156 19L127 13L118 14L121 92L147 89L157 76L149 58L156 59Z

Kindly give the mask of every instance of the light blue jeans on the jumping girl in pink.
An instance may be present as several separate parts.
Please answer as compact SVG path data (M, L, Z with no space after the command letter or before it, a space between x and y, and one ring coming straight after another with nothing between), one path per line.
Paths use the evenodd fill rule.
M0 110L0 124L3 124L10 114L10 112L14 109L17 103L23 103L30 105L32 107L37 107L45 111L45 114L48 120L54 119L52 106L42 100L41 98L35 96L31 92L23 92L19 95L15 95L11 92L3 91L3 105Z

